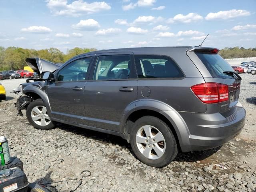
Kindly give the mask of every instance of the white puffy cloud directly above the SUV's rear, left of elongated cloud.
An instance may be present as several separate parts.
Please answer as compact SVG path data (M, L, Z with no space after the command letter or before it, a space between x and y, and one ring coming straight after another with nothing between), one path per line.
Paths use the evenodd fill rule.
M198 22L203 19L204 18L197 13L189 13L187 15L178 14L173 18L169 18L167 20L167 23L174 23L174 22L191 23L191 22Z

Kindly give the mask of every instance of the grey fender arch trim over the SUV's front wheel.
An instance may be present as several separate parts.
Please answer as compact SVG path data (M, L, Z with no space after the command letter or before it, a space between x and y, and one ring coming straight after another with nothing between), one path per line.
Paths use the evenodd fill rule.
M47 112L48 112L48 116L51 118L52 117L52 109L50 107L50 103L49 103L49 99L48 99L48 95L46 94L46 92L44 90L42 90L42 88L38 87L38 86L34 86L34 85L30 85L30 86L26 86L23 89L23 93L27 94L27 93L35 93L38 94L40 96L40 98L42 98Z

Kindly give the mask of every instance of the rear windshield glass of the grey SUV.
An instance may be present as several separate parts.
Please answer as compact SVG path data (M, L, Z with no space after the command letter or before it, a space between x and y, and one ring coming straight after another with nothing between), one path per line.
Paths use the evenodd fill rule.
M230 79L232 76L224 74L224 71L234 71L233 68L220 55L211 53L196 53L198 58L206 66L212 77Z

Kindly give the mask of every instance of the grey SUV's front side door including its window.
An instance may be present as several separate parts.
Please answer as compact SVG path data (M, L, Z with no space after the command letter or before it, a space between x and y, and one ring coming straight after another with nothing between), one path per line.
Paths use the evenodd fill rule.
M84 124L84 86L92 57L74 60L60 69L56 81L48 86L52 117Z

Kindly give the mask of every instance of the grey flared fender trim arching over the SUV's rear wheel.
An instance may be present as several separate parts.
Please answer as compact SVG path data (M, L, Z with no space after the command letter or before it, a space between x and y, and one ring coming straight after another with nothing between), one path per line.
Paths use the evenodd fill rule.
M126 124L127 118L132 114L134 111L138 110L152 110L158 112L165 116L170 123L172 124L180 143L180 147L182 151L185 151L185 148L189 147L189 136L190 132L188 130L188 126L186 122L183 120L182 116L171 106L168 104L153 100L153 99L141 99L137 100L136 102L131 103L126 110L124 110L122 121L121 121L121 129L120 132L124 133L124 127Z

